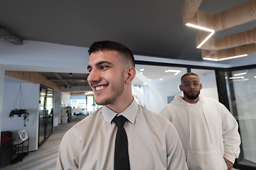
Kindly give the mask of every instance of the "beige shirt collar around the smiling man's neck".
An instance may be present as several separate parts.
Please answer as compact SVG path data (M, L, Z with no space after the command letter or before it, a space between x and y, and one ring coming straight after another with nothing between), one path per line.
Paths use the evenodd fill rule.
M135 118L138 111L138 104L135 100L132 101L132 103L122 112L122 113L115 113L110 108L107 108L107 106L102 106L102 114L107 121L107 123L111 124L113 118L118 115L123 115L127 120L129 120L130 123L134 124Z

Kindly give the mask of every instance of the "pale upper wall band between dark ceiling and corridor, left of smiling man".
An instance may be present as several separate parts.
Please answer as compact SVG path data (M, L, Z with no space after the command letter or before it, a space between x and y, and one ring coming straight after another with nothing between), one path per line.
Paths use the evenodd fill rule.
M23 40L23 45L13 45L0 40L0 67L17 71L87 73L87 50L49 42Z

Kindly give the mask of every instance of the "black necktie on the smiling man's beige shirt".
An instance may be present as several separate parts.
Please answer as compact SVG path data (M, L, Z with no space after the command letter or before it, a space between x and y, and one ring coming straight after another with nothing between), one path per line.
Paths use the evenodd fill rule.
M124 123L127 118L119 115L113 121L117 125L117 136L114 145L114 170L129 170L129 154L127 134L124 130Z

